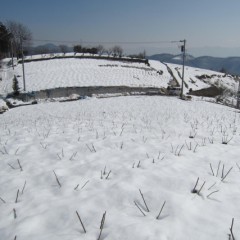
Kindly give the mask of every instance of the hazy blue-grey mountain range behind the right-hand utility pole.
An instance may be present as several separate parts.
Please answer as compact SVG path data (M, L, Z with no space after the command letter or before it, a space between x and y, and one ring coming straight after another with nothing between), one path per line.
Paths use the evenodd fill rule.
M148 59L158 60L166 63L182 64L182 55L173 54L155 54L149 56ZM224 70L227 73L233 75L240 75L240 57L193 57L192 55L186 55L186 65L190 67L210 69L214 71Z

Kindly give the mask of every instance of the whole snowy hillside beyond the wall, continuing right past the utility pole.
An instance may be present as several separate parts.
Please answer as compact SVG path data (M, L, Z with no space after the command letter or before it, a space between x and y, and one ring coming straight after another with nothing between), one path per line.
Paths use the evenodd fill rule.
M68 55L67 55L68 56ZM33 56L32 59L41 56ZM49 57L49 56L48 56ZM69 56L68 56L69 57ZM51 59L25 63L26 90L38 91L58 87L81 86L132 86L132 87L167 87L172 79L167 66L181 85L181 66L151 60L150 66L144 63L131 63L103 59ZM15 70L10 68L2 72L0 94L12 91L13 74L18 76L20 88L23 89L22 66ZM202 75L211 78L199 79ZM198 76L198 77L197 77ZM199 90L211 85L224 86L231 91L237 90L237 82L232 76L186 67L184 92L190 88Z

